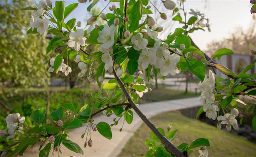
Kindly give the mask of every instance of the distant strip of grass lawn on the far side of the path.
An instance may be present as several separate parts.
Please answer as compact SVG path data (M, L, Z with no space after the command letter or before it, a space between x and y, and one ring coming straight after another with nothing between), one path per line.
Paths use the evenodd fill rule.
M138 104L143 104L147 102L156 102L163 100L173 100L173 99L182 99L189 97L199 97L195 95L194 92L184 93L184 91L177 91L174 89L168 89L169 85L159 84L158 89L153 89L148 93L144 93L143 97L139 99Z

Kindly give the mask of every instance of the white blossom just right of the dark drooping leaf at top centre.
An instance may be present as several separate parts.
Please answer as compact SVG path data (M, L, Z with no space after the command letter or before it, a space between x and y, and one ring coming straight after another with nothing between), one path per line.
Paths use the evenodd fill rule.
M156 64L156 49L143 49L141 55L139 56L138 62L141 64L143 70L147 69L149 64Z

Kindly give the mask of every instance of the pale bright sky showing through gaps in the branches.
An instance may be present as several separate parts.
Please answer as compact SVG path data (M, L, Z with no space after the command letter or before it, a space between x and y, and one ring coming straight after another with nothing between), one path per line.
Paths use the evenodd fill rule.
M38 1L38 0L37 0ZM54 2L55 0L53 0ZM161 0L155 0L157 3L162 3ZM175 2L176 0L174 0ZM77 0L65 0L66 5L72 4L74 2L78 2ZM177 1L176 1L177 3ZM108 4L104 0L100 0L96 7L99 9L103 9ZM115 2L111 4L115 4L119 6L119 3ZM109 6L111 6L109 4ZM79 4L75 11L73 11L69 17L65 20L69 20L71 18L76 18L77 21L80 20L82 22L82 26L85 26L85 19L89 18L90 15L87 12L86 4ZM186 0L184 3L185 10L189 12L190 9L198 9L201 13L206 15L206 18L210 19L211 24L211 32L206 31L195 31L191 34L194 42L200 47L200 49L205 50L207 48L207 44L213 40L221 40L222 38L229 37L232 33L236 31L238 27L246 30L252 25L252 15L250 14L250 7L252 4L249 3L249 0ZM165 8L161 8L165 9ZM104 13L108 13L109 9L103 11ZM167 12L167 15L171 15L172 11L164 10L163 12ZM168 14L169 13L169 14ZM167 18L171 23L165 24L163 26L164 29L166 27L170 27L168 30L173 32L176 27L180 25L178 22L171 21L172 17ZM167 25L167 26L166 26ZM162 32L160 37L166 38L169 32Z

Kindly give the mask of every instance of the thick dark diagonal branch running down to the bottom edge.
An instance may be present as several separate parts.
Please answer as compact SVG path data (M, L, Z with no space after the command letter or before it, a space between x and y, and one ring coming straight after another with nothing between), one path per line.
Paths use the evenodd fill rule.
M152 124L147 117L139 110L139 108L136 106L134 101L132 100L132 97L130 97L128 91L126 90L124 83L121 81L121 79L117 76L117 73L115 71L115 68L113 68L113 73L115 75L115 79L117 79L117 82L119 83L122 91L124 92L124 95L127 97L128 101L130 102L131 108L134 109L134 111L137 113L137 115L143 120L143 122L152 130L155 135L160 139L160 141L164 144L165 149L170 152L172 155L178 156L178 157L186 157L187 155L184 155L178 148L176 148L173 143L171 143L166 137L164 137L160 131Z

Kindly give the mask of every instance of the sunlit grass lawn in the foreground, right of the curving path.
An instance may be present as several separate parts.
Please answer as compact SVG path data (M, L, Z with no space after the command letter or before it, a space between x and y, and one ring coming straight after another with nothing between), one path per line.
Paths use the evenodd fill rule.
M156 115L150 120L158 128L165 129L166 125L170 124L171 130L178 129L173 141L176 146L183 142L190 144L193 140L203 137L210 141L211 147L208 148L208 151L211 157L256 156L256 144L226 131L218 130L214 126L210 126L199 120L189 119L181 115L178 111ZM150 129L145 124L142 124L119 156L145 155L148 150L144 144L146 139L150 139ZM198 151L196 151L191 156L198 155Z

